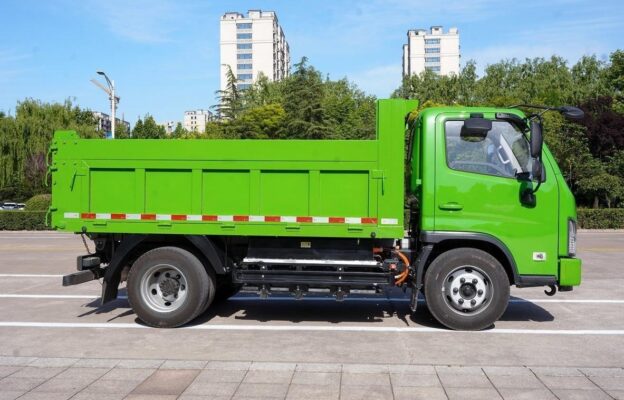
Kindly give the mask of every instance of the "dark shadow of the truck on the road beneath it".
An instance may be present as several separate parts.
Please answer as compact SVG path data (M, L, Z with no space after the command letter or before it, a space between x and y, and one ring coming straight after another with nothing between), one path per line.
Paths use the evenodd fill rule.
M125 290L120 291L120 298L101 305L100 299L86 304L89 311L78 315L87 317L92 314L114 314L108 322L134 315L125 298ZM501 321L550 322L554 316L536 303L511 297ZM116 313L124 310L121 313ZM421 298L415 313L411 313L407 298L365 296L347 298L337 302L331 297L306 297L296 300L287 296L274 296L261 299L257 296L237 295L228 300L213 304L205 313L195 318L188 326L202 325L212 320L256 321L256 322L344 322L382 324L392 319L402 321L404 326L423 326L444 328L427 309ZM138 319L136 322L141 323ZM225 321L227 322L227 321Z

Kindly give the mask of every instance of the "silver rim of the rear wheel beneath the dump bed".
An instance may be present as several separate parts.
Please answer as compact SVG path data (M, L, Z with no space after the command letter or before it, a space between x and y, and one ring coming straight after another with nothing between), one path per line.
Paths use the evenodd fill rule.
M186 301L186 276L170 264L151 266L141 278L141 300L156 312L172 312Z

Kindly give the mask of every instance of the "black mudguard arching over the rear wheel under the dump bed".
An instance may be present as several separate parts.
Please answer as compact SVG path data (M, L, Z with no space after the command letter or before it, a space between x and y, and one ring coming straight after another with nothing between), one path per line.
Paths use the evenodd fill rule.
M215 274L224 275L230 269L223 248L209 237L196 235L126 235L116 248L106 268L102 284L102 304L117 298L121 273L141 254L161 246L178 246L195 254L206 268L212 266Z

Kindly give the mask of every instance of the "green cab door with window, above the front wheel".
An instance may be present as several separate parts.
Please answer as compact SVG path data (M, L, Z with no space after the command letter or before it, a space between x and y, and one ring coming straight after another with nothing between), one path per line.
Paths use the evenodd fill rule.
M520 275L557 275L558 188L550 165L545 160L536 203L523 204L527 182L518 174L531 167L524 134L493 120L485 139L461 137L467 117L436 119L435 230L490 235L508 248Z

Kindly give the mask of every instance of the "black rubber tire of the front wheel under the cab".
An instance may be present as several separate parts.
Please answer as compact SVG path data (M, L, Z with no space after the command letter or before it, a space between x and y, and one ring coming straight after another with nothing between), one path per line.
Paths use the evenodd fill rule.
M464 283L465 278L461 281L460 278L471 274L473 277L476 274L479 279L469 279L468 283ZM458 280L453 283L456 277ZM451 285L460 285L460 281L460 289L447 290ZM472 285L472 282L477 283ZM477 287L484 288L481 295L478 295ZM450 296L448 292L454 295ZM485 251L469 247L453 249L439 255L427 269L425 299L431 314L444 326L456 330L481 330L492 326L507 309L509 278L501 263ZM477 304L475 308L463 309L473 307L471 299Z

